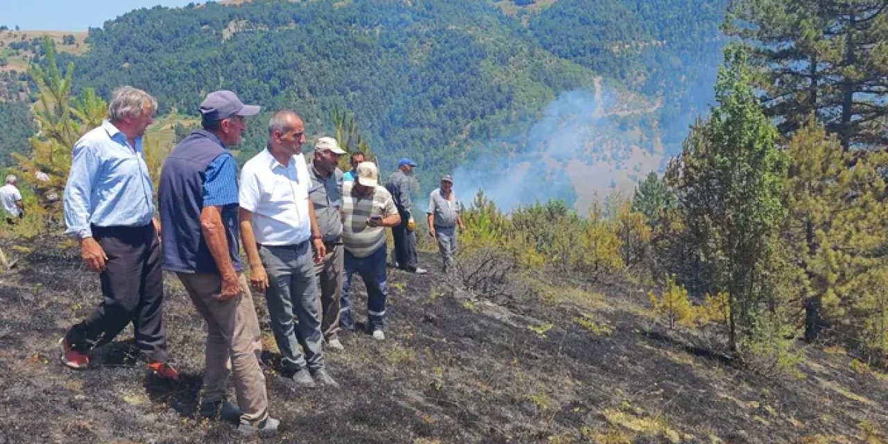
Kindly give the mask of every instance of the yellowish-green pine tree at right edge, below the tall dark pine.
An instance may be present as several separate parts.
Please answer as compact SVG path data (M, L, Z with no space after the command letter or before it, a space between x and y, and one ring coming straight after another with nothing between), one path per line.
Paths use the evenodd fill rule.
M860 353L884 356L888 196L880 171L888 156L843 153L837 137L813 120L788 152L783 238L800 268L793 281L803 293L805 339L818 340L829 328Z

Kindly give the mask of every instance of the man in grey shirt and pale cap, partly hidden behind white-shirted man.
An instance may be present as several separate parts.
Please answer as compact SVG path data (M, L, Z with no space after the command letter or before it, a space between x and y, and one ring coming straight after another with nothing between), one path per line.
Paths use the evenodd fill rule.
M314 160L308 165L312 186L308 196L314 205L314 215L321 230L321 239L327 253L314 265L314 275L321 288L321 333L327 346L343 350L339 342L339 299L342 297L342 182L339 156L345 151L337 139L322 137L314 144Z

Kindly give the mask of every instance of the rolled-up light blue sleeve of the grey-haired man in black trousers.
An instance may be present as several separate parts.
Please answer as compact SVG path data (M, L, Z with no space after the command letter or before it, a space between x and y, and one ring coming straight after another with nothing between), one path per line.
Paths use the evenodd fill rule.
M63 198L65 226L67 226L65 234L81 239L92 237L90 228L92 186L100 167L99 159L91 147L75 145Z

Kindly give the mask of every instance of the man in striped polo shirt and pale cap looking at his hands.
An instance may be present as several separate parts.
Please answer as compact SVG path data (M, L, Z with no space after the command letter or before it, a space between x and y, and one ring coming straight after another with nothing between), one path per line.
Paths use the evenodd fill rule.
M342 240L345 244L345 281L339 308L339 322L345 329L353 329L349 289L352 276L361 274L367 287L367 317L369 330L378 340L385 339L385 227L398 226L400 214L394 206L392 194L379 186L379 170L371 162L355 169L353 182L342 186Z

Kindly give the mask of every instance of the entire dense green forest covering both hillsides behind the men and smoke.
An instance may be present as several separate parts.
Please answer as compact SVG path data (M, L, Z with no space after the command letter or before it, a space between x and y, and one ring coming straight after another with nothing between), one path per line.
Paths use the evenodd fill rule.
M133 84L155 94L161 113L193 114L203 94L229 88L269 111L291 107L321 134L344 109L384 170L413 157L427 189L467 158L523 149L545 105L593 91L597 75L662 98L653 119L630 124L677 151L711 97L723 10L563 0L521 20L468 0L155 7L91 29L90 52L61 54L59 66L75 61L75 93L107 97ZM242 158L263 145L264 121L250 127Z

